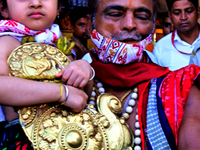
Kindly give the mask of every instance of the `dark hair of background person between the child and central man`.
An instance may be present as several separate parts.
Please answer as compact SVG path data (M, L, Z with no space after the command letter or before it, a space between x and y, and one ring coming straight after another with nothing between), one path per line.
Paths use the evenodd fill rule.
M75 26L77 20L82 17L86 17L89 14L88 7L74 7L69 12L70 23L72 26Z

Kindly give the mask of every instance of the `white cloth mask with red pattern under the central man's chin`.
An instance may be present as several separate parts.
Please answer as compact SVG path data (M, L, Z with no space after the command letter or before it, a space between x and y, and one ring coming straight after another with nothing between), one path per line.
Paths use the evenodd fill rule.
M94 30L91 39L96 46L92 52L97 53L102 62L128 64L141 61L143 50L152 41L152 34L138 43L129 44L106 38Z

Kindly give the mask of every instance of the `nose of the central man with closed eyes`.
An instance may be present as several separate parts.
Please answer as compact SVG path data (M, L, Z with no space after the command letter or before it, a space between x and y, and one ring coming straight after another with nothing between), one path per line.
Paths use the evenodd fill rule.
M124 16L122 22L121 22L122 30L126 30L128 32L131 32L135 30L136 23L134 20L133 12L127 12Z

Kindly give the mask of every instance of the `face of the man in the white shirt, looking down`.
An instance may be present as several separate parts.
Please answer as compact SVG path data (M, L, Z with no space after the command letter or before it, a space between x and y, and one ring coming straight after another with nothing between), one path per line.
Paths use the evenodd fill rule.
M178 0L173 3L170 16L178 31L188 33L197 25L198 10L190 1Z

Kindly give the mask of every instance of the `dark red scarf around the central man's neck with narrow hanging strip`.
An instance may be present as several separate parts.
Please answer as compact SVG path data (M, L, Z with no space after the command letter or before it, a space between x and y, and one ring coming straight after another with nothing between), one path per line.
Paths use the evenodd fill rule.
M148 102L148 85L152 78L166 75L168 68L160 67L153 63L131 63L127 65L104 64L95 59L91 54L97 78L103 83L109 84L115 88L131 88L138 85L139 104L138 117L141 130L142 149L144 149L146 129L146 111Z

